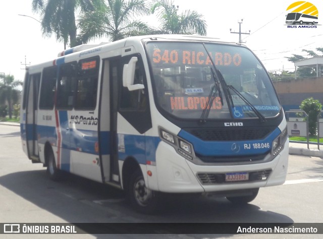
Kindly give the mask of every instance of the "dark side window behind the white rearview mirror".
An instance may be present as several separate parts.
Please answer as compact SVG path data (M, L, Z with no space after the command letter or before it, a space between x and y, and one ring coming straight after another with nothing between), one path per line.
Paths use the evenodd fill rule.
M136 64L134 84L144 84L145 81L143 64L141 61L138 61ZM147 104L145 89L129 91L127 87L121 87L121 110L145 110Z

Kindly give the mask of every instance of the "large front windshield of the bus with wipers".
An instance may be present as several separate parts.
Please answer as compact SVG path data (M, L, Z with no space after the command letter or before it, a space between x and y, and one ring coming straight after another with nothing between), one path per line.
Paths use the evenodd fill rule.
M245 47L149 42L147 49L156 104L171 116L198 120L265 118L280 111L270 78Z

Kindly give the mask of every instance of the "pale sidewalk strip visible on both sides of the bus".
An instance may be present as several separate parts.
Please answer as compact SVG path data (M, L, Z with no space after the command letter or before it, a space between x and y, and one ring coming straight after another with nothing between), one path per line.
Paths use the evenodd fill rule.
M0 125L8 126L20 126L19 123L15 122L0 122ZM309 149L307 148L307 142L289 142L289 154L304 155L304 156L313 156L323 158L323 145L319 145L319 150L317 149L316 144L309 144Z

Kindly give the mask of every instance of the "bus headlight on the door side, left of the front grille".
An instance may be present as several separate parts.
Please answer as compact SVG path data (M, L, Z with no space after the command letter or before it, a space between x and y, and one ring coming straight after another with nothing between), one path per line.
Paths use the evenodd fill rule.
M164 130L159 127L159 137L164 142L175 148L175 151L184 158L193 160L195 157L193 145L184 139Z

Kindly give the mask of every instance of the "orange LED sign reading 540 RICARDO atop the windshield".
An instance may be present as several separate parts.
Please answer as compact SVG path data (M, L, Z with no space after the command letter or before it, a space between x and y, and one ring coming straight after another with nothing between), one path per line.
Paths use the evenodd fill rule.
M194 50L153 50L153 63L156 64L183 64L183 65L212 65L206 52ZM228 52L210 52L210 56L216 65L219 66L240 66L241 55L239 53L230 54Z

